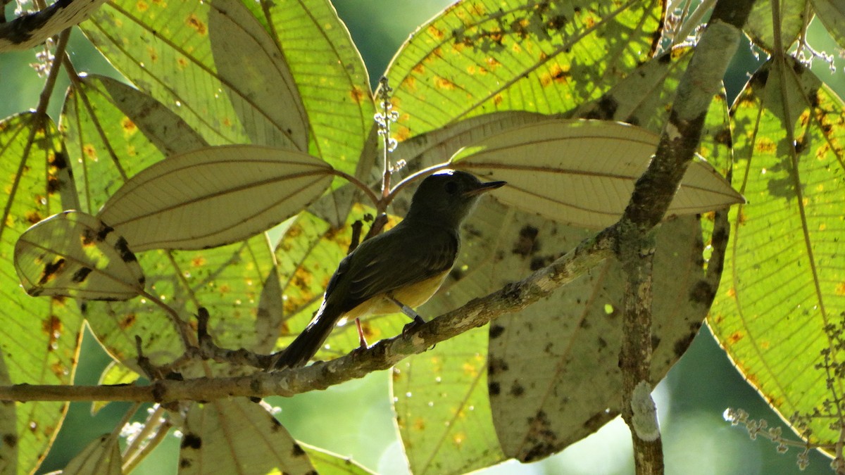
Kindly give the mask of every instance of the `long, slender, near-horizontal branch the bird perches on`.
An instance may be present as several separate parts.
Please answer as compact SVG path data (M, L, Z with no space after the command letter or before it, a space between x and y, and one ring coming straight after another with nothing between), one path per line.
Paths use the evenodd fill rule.
M146 386L0 386L0 401L214 401L235 396L293 396L310 390L324 390L331 385L362 378L373 371L389 369L404 358L424 352L466 330L485 325L501 314L526 308L612 256L614 233L615 229L610 227L522 281L509 284L487 297L474 299L406 335L379 341L372 347L328 362L232 378L160 379Z

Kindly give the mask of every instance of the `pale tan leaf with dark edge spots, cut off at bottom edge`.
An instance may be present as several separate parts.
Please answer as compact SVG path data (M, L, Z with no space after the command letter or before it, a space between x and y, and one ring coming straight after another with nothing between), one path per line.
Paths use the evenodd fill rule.
M261 404L237 398L198 403L188 410L180 475L313 470L305 450Z

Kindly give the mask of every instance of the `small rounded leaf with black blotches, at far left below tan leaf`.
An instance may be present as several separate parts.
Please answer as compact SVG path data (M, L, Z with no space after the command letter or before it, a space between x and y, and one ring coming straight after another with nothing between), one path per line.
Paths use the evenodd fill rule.
M89 300L125 300L144 290L144 274L126 239L80 211L30 227L14 246L24 290Z

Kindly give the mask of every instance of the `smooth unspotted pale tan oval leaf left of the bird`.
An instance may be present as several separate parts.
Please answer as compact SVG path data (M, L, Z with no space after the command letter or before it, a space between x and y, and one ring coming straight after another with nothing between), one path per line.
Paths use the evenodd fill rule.
M99 216L138 251L212 248L297 214L323 194L331 178L329 165L296 150L208 147L138 173Z

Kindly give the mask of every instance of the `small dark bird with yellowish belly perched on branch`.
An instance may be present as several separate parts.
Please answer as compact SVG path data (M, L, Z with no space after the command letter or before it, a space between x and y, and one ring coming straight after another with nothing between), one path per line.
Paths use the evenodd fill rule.
M275 369L308 363L344 317L401 310L415 322L423 322L412 308L426 303L455 265L461 224L482 194L505 183L482 182L459 170L444 170L423 179L404 220L363 241L341 260L319 310L278 354Z

